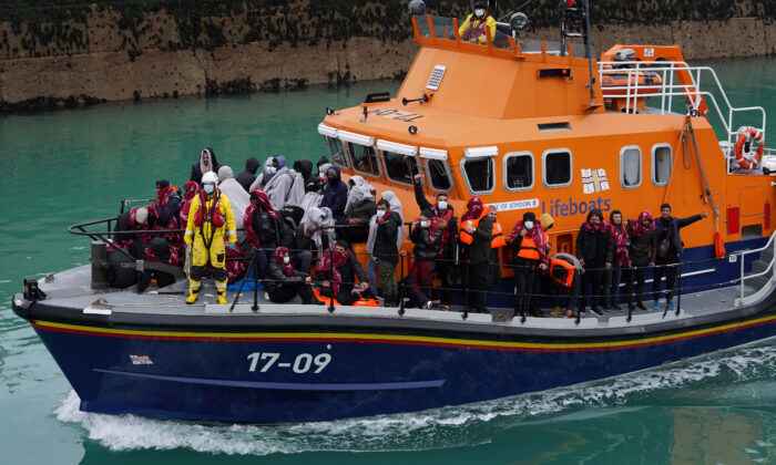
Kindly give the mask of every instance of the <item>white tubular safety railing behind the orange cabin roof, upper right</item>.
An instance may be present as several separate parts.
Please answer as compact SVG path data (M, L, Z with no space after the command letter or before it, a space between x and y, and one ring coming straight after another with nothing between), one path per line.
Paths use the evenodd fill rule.
M639 100L646 97L652 99L651 102L660 99L660 106L656 108L663 114L671 113L674 97L681 97L685 100L690 112L694 114L703 108L705 102L708 110L714 112L723 125L727 142L734 141L738 127L735 124L736 116L743 113L754 113L762 116L757 130L762 131L765 137L765 110L762 106L733 106L714 69L690 66L685 62L673 61L641 61L629 64L631 68L615 68L622 65L622 62L599 62L599 74L603 97L625 99L624 110L627 113L636 113ZM620 78L624 84L611 84L616 82L615 76L624 76ZM658 78L658 82L655 82L655 76ZM707 78L702 80L704 76ZM611 85L603 85L606 82ZM708 90L704 89L706 82L711 82Z

